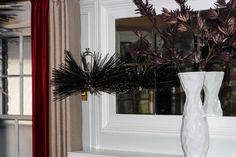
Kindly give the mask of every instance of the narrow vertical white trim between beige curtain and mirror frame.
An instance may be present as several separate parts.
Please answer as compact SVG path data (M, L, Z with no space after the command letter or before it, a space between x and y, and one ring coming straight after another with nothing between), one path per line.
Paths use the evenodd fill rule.
M90 48L90 51L98 51L98 1L81 0L81 51ZM82 103L83 109L83 148L97 147L96 128L99 121L93 113L96 112L94 96L88 94L88 101Z

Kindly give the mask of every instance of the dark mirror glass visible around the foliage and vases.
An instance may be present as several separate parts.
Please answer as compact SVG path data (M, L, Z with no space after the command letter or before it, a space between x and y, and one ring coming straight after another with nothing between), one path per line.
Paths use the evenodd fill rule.
M235 13L233 13L236 15ZM160 30L165 27L160 16L157 16ZM152 24L147 17L124 18L116 20L116 52L129 66L133 66L137 71L140 63L146 62L142 57L132 55L132 44L139 39L137 32L142 30L142 35L149 43L157 49L161 47L160 37L153 33ZM194 42L188 33L181 34L178 38L181 48L186 52L194 50ZM184 44L183 44L184 43ZM203 50L204 51L204 50ZM204 54L203 54L204 55ZM236 60L230 65L230 77L225 76L219 98L224 116L236 115ZM212 69L215 67L211 67ZM141 68L141 70L143 70ZM157 69L160 70L160 69ZM116 95L116 108L118 114L158 114L158 115L181 115L185 102L183 89L180 87L175 68L169 66L163 70L163 74L158 71L159 76L154 77L153 88L139 88L135 92ZM228 79L230 78L230 80ZM146 80L144 80L146 81ZM147 81L148 83L148 81ZM204 99L204 93L202 92Z

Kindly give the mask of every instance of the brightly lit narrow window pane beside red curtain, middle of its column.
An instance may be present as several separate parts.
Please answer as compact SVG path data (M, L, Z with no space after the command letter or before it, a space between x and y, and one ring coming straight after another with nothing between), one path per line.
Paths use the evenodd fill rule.
M32 78L24 78L24 115L32 115Z

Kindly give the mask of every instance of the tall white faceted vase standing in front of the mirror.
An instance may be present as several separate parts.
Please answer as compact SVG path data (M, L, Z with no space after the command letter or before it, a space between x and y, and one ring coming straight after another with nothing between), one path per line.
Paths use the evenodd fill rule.
M186 95L181 127L182 148L185 157L205 157L209 147L209 130L200 95L205 72L178 75Z

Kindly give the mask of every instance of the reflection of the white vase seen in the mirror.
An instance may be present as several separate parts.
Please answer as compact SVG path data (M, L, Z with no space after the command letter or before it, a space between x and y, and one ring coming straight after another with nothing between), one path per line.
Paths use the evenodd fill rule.
M222 116L223 111L218 97L224 72L206 72L204 89L204 110L207 116Z

